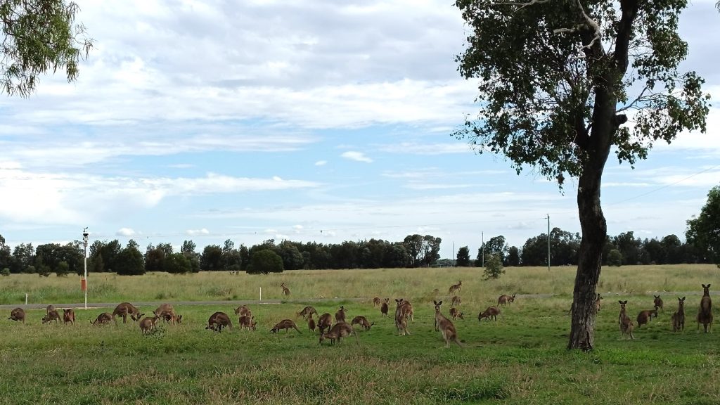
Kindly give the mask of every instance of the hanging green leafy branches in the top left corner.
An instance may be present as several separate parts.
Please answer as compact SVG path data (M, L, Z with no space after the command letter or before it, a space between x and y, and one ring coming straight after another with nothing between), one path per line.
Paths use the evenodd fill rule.
M64 0L0 0L0 92L29 96L37 76L64 70L78 76L78 62L93 46L76 24L78 5Z

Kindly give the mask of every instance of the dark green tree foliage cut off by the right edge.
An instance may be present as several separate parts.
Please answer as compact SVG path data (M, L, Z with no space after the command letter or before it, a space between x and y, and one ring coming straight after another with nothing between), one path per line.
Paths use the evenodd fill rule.
M700 215L688 220L685 237L698 252L720 267L720 185L708 192Z

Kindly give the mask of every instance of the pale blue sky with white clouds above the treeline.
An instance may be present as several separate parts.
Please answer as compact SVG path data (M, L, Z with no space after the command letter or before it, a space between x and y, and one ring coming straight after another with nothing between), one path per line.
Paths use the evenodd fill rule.
M341 243L440 237L441 257L580 232L564 192L451 134L477 112L455 58L453 1L77 1L95 48L78 80L0 97L6 243L226 239ZM706 79L706 133L608 159L608 234L684 240L720 184L720 13L680 19L682 71ZM549 215L549 221L548 221Z

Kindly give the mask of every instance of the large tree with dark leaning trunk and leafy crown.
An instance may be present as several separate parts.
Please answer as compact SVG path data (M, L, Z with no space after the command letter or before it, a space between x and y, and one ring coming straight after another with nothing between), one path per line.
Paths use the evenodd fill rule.
M479 79L477 117L455 133L520 172L577 177L582 241L570 348L594 342L595 286L607 224L600 184L611 152L645 159L656 141L705 130L709 94L680 73L685 0L457 0L467 22L459 72ZM626 125L627 124L627 125Z

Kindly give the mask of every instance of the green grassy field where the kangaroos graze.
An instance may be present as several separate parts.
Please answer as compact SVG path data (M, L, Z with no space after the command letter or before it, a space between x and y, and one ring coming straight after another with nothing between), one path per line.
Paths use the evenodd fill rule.
M575 269L507 269L500 280L485 281L477 269L362 270L285 272L247 276L100 277L105 295L95 302L199 301L282 298L285 282L297 300L251 304L257 331L214 333L204 329L215 311L235 325L234 303L177 306L183 324L161 326L143 336L137 324L92 326L89 321L112 308L76 311L74 326L41 324L44 310L28 310L26 324L0 321L1 404L719 404L720 337L696 333L701 283L714 283L714 266L620 267L603 269L605 295L596 324L596 349L567 351L570 292ZM464 347L446 349L433 329L431 292L446 295L463 280L465 319L455 322ZM96 285L101 282L96 281ZM23 290L43 293L43 303L79 302L78 278L12 275L0 278L3 300L19 303ZM225 288L225 291L218 289ZM718 285L720 288L720 283ZM673 295L661 293L665 312L636 339L620 339L618 299L629 300L634 318L652 308L652 292L688 291L686 328L673 334ZM92 290L91 290L92 292ZM609 292L609 293L608 293ZM497 322L477 321L500 293L552 293L552 298L518 297L503 307ZM53 295L55 294L55 295ZM168 294L163 298L157 295ZM172 296L169 294L173 294ZM616 295L618 294L618 295ZM658 294L658 293L655 293ZM410 298L415 321L410 336L397 336L391 318L366 300ZM711 295L713 288L711 288ZM39 296L39 295L37 295ZM341 344L318 344L302 319L302 334L271 334L284 318L294 319L306 302L320 313L344 305L348 319L364 315L375 325ZM50 301L53 297L56 301ZM55 298L56 297L56 298ZM347 298L347 299L345 299ZM441 296L446 299L446 297ZM32 300L31 300L32 302ZM7 303L4 301L4 303ZM154 308L140 308L150 313ZM443 306L447 314L449 308Z

